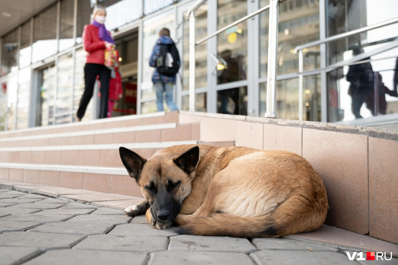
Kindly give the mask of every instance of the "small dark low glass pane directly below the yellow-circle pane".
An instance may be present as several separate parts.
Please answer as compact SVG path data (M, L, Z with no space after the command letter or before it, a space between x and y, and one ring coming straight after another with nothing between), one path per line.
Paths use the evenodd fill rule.
M217 91L217 113L247 115L247 87Z

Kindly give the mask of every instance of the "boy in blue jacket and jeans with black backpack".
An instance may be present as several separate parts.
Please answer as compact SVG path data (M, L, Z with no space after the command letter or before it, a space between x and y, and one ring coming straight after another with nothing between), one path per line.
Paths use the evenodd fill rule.
M158 111L163 111L164 94L166 94L166 103L170 111L178 110L173 101L173 87L176 84L179 64L178 50L174 41L170 38L170 30L163 28L159 31L159 39L156 41L149 58L149 65L155 67L152 74L152 83L156 91Z

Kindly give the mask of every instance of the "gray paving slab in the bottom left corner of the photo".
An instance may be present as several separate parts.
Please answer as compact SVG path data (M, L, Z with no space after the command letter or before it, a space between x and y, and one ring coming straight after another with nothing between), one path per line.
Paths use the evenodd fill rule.
M40 254L36 247L0 246L0 265L20 264Z

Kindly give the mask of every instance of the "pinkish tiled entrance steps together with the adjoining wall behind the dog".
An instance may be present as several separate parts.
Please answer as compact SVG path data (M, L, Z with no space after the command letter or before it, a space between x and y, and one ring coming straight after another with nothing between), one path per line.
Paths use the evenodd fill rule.
M287 150L320 174L325 223L398 244L398 130L215 113L151 113L0 133L0 179L142 197L119 146L144 158L177 144Z

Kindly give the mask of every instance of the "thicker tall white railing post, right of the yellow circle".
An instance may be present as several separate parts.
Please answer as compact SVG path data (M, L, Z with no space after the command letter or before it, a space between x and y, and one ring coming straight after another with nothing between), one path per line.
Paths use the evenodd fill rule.
M276 118L276 60L278 48L278 7L279 0L269 1L268 30L268 74L266 118Z

